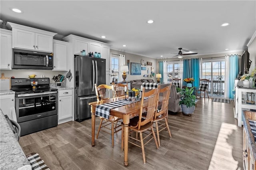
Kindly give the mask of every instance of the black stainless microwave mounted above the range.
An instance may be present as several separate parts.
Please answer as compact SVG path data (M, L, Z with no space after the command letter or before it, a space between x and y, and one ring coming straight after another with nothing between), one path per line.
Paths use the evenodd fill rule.
M53 69L53 54L13 49L12 69Z

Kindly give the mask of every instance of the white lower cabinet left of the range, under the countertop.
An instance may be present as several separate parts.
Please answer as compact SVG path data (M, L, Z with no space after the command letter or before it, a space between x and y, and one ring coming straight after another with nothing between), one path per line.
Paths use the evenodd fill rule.
M0 95L0 108L4 115L11 114L11 108L15 107L14 94L13 95Z

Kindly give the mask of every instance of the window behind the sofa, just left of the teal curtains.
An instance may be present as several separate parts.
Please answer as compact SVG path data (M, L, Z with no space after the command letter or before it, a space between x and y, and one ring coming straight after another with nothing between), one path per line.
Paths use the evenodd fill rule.
M172 79L180 79L180 63L176 62L167 62L167 82L171 83Z

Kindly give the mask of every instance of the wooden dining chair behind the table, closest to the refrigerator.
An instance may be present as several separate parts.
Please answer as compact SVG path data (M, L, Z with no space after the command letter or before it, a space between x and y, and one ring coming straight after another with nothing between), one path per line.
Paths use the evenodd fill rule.
M95 84L95 89L96 89L96 96L97 96L97 101L102 101L102 100L106 100L106 99L109 99L111 96L110 96L110 91L112 90L112 95L114 97L114 88L113 88L113 85L99 85L97 87L97 85ZM106 128L108 130L111 130L111 133L110 132L107 132L105 130L102 130L103 132L106 132L108 134L111 134L111 137L112 137L112 147L114 147L114 134L120 130L122 130L120 127L121 127L121 124L118 125L118 121L120 119L118 117L114 117L114 116L109 116L109 119L106 119L104 117L100 117L100 125L99 125L99 128L98 128L98 132L97 132L97 135L96 135L96 139L98 139L98 136L99 136L99 133L100 133L100 130L101 128ZM104 121L104 122L103 122ZM116 124L116 125L114 125ZM108 125L111 125L111 128L109 128Z

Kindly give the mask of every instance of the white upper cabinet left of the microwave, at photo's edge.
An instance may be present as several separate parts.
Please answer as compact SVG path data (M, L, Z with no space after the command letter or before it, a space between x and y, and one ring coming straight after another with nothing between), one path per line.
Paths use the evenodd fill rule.
M0 69L12 69L12 31L0 29Z

